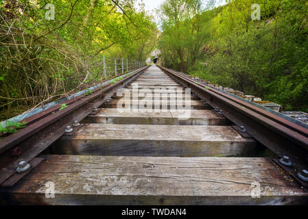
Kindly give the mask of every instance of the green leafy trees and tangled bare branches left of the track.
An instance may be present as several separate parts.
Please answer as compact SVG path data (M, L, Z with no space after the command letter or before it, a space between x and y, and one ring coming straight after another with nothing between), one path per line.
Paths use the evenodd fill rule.
M145 61L157 29L134 5L135 0L1 0L0 110L5 117L12 116L11 107L46 103L102 81L104 75L91 69L102 55Z

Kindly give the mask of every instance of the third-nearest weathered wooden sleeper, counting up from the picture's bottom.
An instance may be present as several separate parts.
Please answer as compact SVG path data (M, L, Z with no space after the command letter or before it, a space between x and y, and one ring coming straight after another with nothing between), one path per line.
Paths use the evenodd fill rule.
M189 114L187 120L179 115ZM178 110L177 112L133 112L114 108L99 109L96 115L88 116L83 123L139 124L139 125L230 125L224 116L217 116L212 110Z

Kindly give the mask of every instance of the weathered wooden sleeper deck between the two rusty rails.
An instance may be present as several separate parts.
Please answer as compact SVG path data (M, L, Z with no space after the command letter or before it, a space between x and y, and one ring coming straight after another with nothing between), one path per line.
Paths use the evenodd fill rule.
M140 83L139 91L171 86L185 92L156 66L134 83ZM136 97L132 84L129 96ZM138 96L131 107L142 99ZM242 157L262 148L196 97L191 96L188 120L178 118L180 111L119 112L119 101L115 97L105 103L78 131L62 136L45 151L53 155L40 155L45 161L13 188L1 188L3 200L38 205L307 204L307 192L270 159ZM174 103L168 99L164 104L170 109ZM55 198L45 196L47 182L54 183Z

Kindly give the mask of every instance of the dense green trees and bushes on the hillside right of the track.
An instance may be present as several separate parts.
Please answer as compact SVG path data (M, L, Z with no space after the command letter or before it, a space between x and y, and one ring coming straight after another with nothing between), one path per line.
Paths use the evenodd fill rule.
M253 3L261 20L252 20ZM166 0L158 47L165 66L308 112L307 0Z

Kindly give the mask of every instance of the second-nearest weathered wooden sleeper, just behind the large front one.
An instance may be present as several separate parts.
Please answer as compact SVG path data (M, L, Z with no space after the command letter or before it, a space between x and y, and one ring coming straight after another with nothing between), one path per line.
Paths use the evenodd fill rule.
M84 124L52 149L69 155L244 157L257 146L226 126Z

